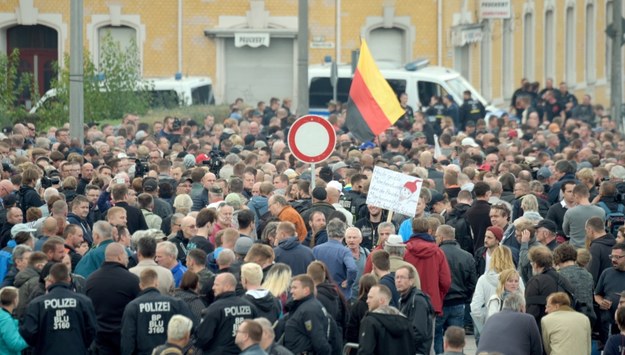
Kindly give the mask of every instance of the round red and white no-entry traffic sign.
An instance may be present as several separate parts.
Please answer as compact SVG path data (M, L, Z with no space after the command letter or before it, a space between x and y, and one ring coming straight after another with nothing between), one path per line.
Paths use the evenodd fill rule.
M336 132L323 117L302 116L293 123L288 136L291 153L304 163L322 162L334 151Z

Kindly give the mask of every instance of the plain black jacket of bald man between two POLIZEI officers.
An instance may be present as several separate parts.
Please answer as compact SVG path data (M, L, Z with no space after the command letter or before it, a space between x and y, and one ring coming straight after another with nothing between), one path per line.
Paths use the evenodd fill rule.
M140 291L139 278L115 262L104 262L87 278L86 294L98 317L96 343L104 352L120 352L124 308Z

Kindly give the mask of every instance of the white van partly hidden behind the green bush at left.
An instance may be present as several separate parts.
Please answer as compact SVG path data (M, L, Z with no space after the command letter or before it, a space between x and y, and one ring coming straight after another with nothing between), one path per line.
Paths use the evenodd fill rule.
M145 78L142 85L146 85L150 93L151 107L172 108L215 104L213 82L209 77ZM48 90L29 113L35 113L39 108L54 102L56 96L56 89Z

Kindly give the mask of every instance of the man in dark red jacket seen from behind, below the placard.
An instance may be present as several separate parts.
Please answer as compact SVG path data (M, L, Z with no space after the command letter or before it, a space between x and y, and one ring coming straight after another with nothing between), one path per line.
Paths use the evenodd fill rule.
M406 243L404 260L419 272L421 289L430 296L436 315L443 313L443 299L451 285L451 272L445 253L428 234L427 218L412 220L412 235Z

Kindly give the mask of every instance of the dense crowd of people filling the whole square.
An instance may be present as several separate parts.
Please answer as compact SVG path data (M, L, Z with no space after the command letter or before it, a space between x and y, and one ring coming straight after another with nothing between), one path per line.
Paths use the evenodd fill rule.
M0 136L0 352L621 354L625 138L562 84L297 161L290 100ZM423 180L414 215L373 168Z

